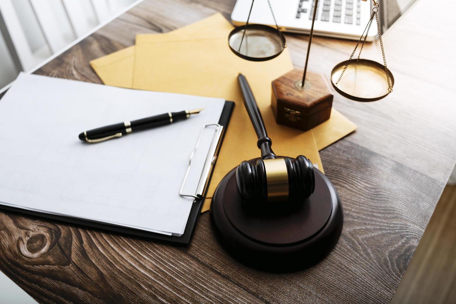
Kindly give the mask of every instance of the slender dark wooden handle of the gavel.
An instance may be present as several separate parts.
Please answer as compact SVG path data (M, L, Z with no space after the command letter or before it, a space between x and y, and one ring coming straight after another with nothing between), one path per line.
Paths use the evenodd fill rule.
M249 82L244 75L239 73L238 75L239 85L241 87L242 96L244 98L244 105L249 113L250 120L254 125L255 132L258 136L257 146L261 150L261 159L269 160L277 158L274 152L271 149L272 140L268 137L266 133L266 128L264 127L263 118L259 112L258 105L255 101L254 94L250 89Z

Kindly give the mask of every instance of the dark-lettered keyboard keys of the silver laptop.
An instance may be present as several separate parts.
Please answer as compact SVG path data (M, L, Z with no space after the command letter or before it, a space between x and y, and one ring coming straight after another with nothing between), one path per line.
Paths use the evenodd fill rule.
M307 9L303 8L305 2L309 0L299 0L298 11L296 13L296 19L300 19L301 15L307 13ZM318 20L318 13L320 4L323 3L321 12L321 21L336 23L347 23L347 24L361 24L361 0L319 0L317 5L317 14L315 20ZM342 11L342 2L345 2L344 10ZM311 9L309 11L309 19L312 20L313 10L315 7L315 0L312 1ZM331 18L332 16L332 18Z

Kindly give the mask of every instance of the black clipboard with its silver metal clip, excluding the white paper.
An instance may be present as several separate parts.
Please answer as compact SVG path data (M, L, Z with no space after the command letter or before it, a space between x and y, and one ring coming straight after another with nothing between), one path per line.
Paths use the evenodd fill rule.
M193 196L194 200L192 202L192 208L191 208L189 216L188 216L185 231L181 236L165 235L165 234L160 234L160 233L155 233L155 232L139 230L139 229L135 229L135 228L120 227L120 226L116 226L114 224L110 224L110 223L106 223L106 222L94 221L94 220L90 220L90 219L73 217L73 216L65 216L65 215L52 213L52 212L37 211L32 208L22 208L22 207L20 208L20 207L0 204L0 210L14 212L14 213L17 213L20 215L44 218L44 219L48 219L48 220L52 220L52 221L60 222L60 223L64 223L64 224L72 224L74 226L78 226L78 227L82 227L82 228L92 228L92 229L96 229L96 230L100 230L100 231L104 231L104 232L114 232L114 233L125 235L125 236L140 237L140 238L144 238L144 239L148 239L148 240L152 240L152 241L166 242L166 243L174 244L174 245L188 246L192 240L193 232L195 230L195 225L197 222L198 215L201 213L200 211L202 208L202 204L204 202L204 198L207 195L207 191L209 188L208 185L212 178L213 169L216 165L216 162L218 159L218 154L222 147L226 129L228 128L228 123L231 119L231 114L233 113L233 108L234 108L234 102L225 101L225 104L224 104L223 110L222 110L222 114L220 116L220 119L219 119L218 124L216 125L215 131L214 131L211 148L209 149L209 152L207 154L206 161L203 166L203 171L202 171L200 180L198 182L195 194L182 194L183 196ZM207 125L207 126L209 126L209 125ZM207 126L204 126L203 130ZM201 139L201 136L200 136L200 139ZM196 143L196 146L197 146L197 144L198 143ZM191 165L191 160L189 162L188 170L190 169L190 165ZM187 174L188 174L188 170L187 170ZM186 174L186 176L183 176L183 183L182 183L181 191L182 191L183 185L186 181L187 174Z

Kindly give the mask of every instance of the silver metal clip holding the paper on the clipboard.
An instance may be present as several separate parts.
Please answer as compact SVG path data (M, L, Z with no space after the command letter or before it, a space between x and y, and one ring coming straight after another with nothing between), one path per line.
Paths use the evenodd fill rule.
M211 141L211 145L209 147L209 151L207 152L207 155L206 155L206 160L204 161L204 166L202 168L202 172L200 175L200 179L198 181L198 185L197 185L195 194L183 194L182 191L184 189L185 183L187 181L188 173L190 172L190 168L192 166L193 155L195 155L195 152L198 149L198 146L202 139L202 135L204 134L204 130L207 127L211 127L211 126L216 126L216 128L214 130L214 135L212 136L212 141ZM193 197L195 200L201 200L203 198L202 194L207 185L209 173L211 172L212 166L214 165L214 162L215 162L215 156L216 156L215 154L216 154L218 146L219 146L222 131L223 131L223 126L220 124L207 124L202 128L200 136L197 141L197 145L195 146L195 149L193 149L192 153L190 154L190 159L188 160L187 172L185 173L184 180L182 181L181 189L179 191L179 194L181 196Z

